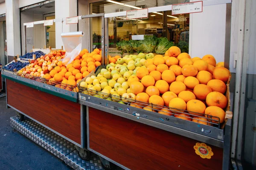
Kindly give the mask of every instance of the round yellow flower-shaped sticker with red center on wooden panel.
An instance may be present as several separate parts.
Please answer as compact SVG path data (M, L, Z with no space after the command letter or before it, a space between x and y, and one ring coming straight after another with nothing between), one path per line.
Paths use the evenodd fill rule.
M212 148L207 146L207 144L205 143L196 143L194 149L195 153L201 156L201 158L203 159L211 159L211 157L213 156Z

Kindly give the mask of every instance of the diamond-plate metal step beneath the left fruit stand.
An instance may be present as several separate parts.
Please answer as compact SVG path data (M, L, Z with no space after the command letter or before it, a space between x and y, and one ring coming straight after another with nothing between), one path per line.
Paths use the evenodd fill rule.
M20 121L16 116L10 118L11 127L40 145L48 152L63 160L75 170L102 170L99 156L91 157L90 161L82 160L77 153L75 144L63 139L49 129L39 125L31 119Z

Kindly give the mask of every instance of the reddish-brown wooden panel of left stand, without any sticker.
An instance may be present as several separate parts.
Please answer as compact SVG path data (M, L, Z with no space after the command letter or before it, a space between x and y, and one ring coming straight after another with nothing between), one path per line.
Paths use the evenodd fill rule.
M9 105L81 144L80 104L9 79L6 83Z

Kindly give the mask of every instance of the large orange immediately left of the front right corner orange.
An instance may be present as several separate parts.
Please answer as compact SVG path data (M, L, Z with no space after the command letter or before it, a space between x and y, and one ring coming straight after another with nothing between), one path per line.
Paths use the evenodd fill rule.
M195 116L204 116L206 106L200 100L192 99L187 102L187 111Z

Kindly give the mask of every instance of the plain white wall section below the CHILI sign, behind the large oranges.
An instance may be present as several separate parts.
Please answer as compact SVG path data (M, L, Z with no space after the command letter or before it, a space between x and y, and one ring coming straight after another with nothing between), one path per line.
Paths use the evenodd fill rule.
M194 0L196 1L196 0ZM224 61L226 4L204 6L202 13L190 14L189 53L191 57L211 54Z

